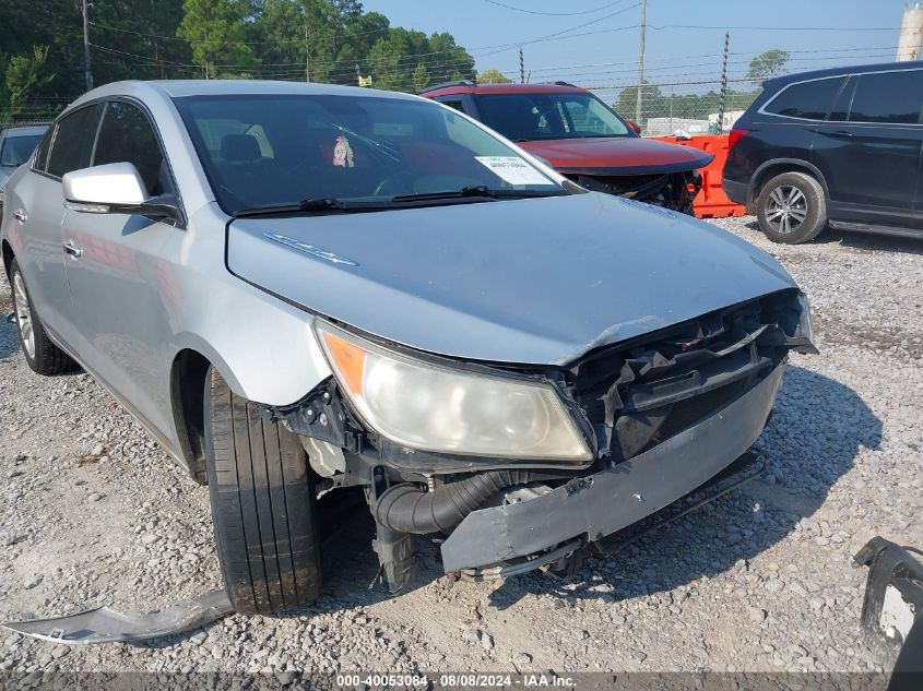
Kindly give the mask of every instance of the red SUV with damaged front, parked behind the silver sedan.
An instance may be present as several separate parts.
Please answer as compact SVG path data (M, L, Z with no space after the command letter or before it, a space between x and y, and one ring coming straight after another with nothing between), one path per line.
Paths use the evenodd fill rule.
M637 124L564 82L451 82L421 95L481 120L589 190L687 214L701 187L698 169L713 158L690 146L641 139Z

